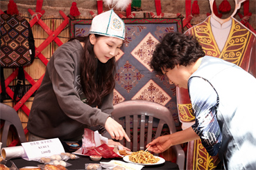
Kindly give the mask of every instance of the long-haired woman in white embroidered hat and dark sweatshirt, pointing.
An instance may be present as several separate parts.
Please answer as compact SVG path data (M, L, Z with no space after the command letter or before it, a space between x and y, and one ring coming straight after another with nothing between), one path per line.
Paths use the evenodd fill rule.
M117 20L119 26L110 28L117 26ZM94 17L89 36L70 39L53 53L28 117L30 141L78 141L85 128L99 130L110 139L130 141L121 124L110 117L114 57L123 39L124 23L110 10Z

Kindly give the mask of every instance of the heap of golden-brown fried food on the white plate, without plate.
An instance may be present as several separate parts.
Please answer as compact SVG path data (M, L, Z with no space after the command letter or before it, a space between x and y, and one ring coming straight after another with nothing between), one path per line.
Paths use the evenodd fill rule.
M129 155L129 160L139 164L154 164L160 160L148 151L137 151Z

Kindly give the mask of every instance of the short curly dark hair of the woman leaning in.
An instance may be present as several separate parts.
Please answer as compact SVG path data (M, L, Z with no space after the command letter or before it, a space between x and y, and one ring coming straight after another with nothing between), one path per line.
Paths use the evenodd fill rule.
M173 69L178 64L187 66L204 56L205 52L196 37L169 32L155 46L150 65L158 75L162 75L162 69Z

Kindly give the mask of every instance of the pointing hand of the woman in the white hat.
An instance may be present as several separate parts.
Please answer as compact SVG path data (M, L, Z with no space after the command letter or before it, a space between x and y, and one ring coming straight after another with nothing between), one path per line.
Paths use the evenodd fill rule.
M123 126L121 126L121 124L113 120L111 117L108 117L107 121L105 122L105 129L108 131L108 133L110 133L112 139L122 140L123 138L126 138L126 140L130 142L126 131L123 130Z

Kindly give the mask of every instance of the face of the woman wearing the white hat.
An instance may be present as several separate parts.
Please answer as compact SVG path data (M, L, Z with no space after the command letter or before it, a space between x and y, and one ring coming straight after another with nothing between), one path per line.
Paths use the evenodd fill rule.
M89 35L89 40L94 45L95 57L102 63L116 56L123 44L123 40L116 37Z

